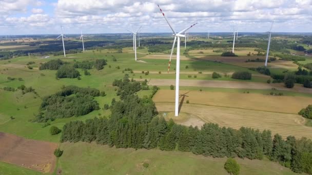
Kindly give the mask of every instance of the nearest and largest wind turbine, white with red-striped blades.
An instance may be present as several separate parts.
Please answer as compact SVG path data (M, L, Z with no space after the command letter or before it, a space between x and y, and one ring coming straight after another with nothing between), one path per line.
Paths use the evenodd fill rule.
M159 7L159 5L158 5ZM175 73L175 108L174 108L174 116L178 116L179 115L179 79L180 79L180 37L185 37L185 35L183 35L182 33L185 34L185 32L190 29L191 27L193 27L194 25L196 25L197 23L191 25L190 27L183 29L181 32L179 33L175 33L175 31L173 30L172 26L170 25L168 19L166 18L164 12L162 11L162 9L159 7L160 11L162 12L163 16L165 17L169 27L171 28L173 35L174 35L174 40L173 40L173 45L172 45L172 49L171 49L171 54L170 54L170 59L169 59L169 65L168 65L168 73L169 73L169 69L170 69L170 63L171 63L171 57L172 57L172 53L173 53L173 49L175 46L175 40L178 39L178 43L177 43L177 67L176 67L176 73Z

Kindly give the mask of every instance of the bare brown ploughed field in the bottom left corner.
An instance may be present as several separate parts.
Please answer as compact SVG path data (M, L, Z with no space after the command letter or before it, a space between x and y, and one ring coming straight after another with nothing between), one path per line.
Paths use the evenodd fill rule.
M36 141L0 132L0 161L41 172L52 172L56 143Z

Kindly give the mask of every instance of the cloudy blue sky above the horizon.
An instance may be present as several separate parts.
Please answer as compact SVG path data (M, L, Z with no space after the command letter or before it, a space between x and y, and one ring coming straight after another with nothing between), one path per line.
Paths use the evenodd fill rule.
M0 35L171 32L312 32L312 0L0 0Z

